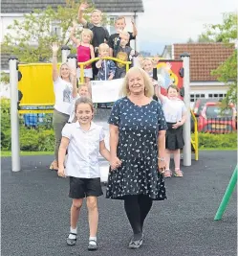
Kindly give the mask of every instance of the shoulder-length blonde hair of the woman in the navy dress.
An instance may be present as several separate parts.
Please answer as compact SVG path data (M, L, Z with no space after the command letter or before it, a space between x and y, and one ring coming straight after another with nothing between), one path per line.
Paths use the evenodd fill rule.
M119 96L124 97L124 96L130 95L129 79L130 79L130 75L133 73L138 73L138 75L141 75L144 82L144 95L146 97L152 97L154 95L154 88L153 88L151 78L141 67L132 67L129 69L122 83Z

